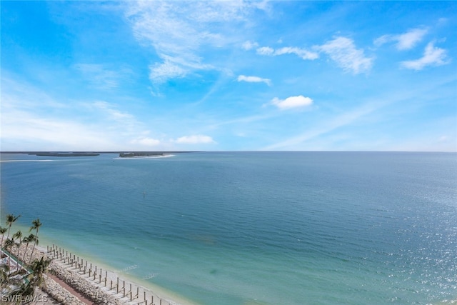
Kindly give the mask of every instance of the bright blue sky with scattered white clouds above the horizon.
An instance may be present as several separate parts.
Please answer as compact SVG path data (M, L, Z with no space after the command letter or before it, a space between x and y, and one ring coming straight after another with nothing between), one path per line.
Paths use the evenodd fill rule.
M457 151L453 1L1 1L2 151Z

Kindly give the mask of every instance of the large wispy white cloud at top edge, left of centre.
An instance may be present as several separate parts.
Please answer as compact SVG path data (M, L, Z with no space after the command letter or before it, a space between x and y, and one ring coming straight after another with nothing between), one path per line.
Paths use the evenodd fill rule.
M129 1L126 18L136 39L154 48L161 59L149 65L149 75L154 84L163 84L218 69L204 63L202 49L230 44L233 31L227 24L246 22L251 11L264 8L246 1Z

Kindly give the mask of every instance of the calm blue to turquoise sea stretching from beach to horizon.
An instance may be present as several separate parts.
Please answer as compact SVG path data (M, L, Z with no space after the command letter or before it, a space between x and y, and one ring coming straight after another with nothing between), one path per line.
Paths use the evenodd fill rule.
M457 300L457 154L1 160L3 225L196 304Z

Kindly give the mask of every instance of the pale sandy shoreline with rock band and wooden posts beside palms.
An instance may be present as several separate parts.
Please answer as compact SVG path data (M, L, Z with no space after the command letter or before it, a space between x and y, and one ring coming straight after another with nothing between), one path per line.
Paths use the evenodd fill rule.
M31 248L26 251L25 247L21 245L21 256L25 252L26 256L31 254ZM43 256L51 259L51 264L45 274L46 286L36 291L41 304L195 305L159 286L148 285L152 288L149 289L133 276L119 276L104 264L86 261L54 244L35 247L33 259Z

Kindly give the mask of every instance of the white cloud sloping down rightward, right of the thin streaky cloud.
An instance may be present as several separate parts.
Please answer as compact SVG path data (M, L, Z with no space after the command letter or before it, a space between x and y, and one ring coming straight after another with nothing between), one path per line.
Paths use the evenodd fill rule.
M337 37L326 44L316 46L316 49L326 53L346 71L354 74L366 72L373 65L373 58L366 57L362 49L356 49L352 39Z

